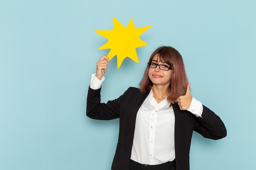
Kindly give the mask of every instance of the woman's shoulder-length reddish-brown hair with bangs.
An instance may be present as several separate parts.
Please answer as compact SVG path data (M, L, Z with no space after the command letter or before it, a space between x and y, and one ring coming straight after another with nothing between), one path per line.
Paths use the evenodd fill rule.
M148 62L152 62L153 57L158 54L159 60L164 61L169 66L172 66L173 73L171 75L171 83L169 86L170 93L167 97L167 100L174 104L176 99L181 95L186 94L186 87L189 82L186 77L186 71L184 63L180 53L170 46L161 46L157 48L150 56ZM153 86L153 83L148 77L149 67L146 67L144 76L139 83L141 93L149 92Z

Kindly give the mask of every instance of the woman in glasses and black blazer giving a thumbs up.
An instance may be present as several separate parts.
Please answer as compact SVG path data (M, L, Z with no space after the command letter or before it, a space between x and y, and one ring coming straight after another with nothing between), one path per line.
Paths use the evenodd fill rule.
M194 99L180 53L162 46L149 58L138 88L100 103L108 57L97 62L87 98L87 116L120 119L112 170L189 170L192 132L221 139L227 135L221 119Z

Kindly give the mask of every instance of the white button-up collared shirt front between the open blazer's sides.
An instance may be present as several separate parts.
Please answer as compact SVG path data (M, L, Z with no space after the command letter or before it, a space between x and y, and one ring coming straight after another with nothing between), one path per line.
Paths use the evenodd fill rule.
M132 144L133 161L157 165L175 159L173 107L167 97L157 103L152 90L138 110Z

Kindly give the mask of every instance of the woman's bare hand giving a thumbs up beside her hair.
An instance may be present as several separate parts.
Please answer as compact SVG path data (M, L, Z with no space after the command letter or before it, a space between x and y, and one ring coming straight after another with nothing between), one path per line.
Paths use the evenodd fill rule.
M186 88L186 94L184 96L180 96L177 98L177 103L180 106L180 110L187 110L190 107L192 96L190 94L190 86L189 84Z

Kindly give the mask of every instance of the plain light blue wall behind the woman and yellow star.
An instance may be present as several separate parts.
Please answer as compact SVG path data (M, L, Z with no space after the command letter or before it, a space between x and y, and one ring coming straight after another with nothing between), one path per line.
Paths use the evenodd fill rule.
M193 135L191 170L256 167L256 1L0 0L0 170L110 170L119 120L86 117L97 60L94 30L153 25L139 64L109 62L102 102L138 86L157 46L183 56L191 93L219 115L227 137Z

